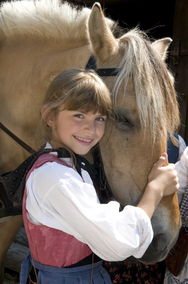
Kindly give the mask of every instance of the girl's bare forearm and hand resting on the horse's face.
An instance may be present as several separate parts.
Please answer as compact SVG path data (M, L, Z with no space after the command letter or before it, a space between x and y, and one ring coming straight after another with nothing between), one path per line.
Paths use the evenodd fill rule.
M137 205L148 214L150 219L162 197L176 192L179 188L175 165L169 164L162 167L166 160L167 154L164 153L152 167L144 195Z

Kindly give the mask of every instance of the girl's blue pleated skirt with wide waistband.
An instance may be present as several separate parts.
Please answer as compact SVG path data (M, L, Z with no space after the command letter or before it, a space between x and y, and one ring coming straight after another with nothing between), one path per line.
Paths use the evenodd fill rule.
M39 284L90 284L92 264L74 268L58 268L34 261L35 268L39 269ZM20 284L26 284L32 264L31 254L22 262ZM112 284L110 276L102 267L102 260L93 264L92 284Z

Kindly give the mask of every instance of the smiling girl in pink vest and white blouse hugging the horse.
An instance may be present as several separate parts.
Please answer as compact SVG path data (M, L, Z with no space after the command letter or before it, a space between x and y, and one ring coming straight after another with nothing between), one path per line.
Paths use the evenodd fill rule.
M113 117L104 82L91 71L61 72L48 87L41 114L46 148L57 150L39 156L27 174L23 219L31 254L22 264L20 284L111 284L101 259L142 257L153 238L155 208L178 189L174 164L161 168L164 153L137 207L119 212L118 202L100 204L79 158L101 139Z

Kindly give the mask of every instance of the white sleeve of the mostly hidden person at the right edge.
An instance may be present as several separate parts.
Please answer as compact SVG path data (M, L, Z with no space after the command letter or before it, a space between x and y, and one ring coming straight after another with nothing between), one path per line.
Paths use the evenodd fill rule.
M175 165L175 170L178 173L178 183L180 185L180 188L176 191L176 193L178 196L178 202L181 204L188 178L188 147L183 152L180 161L178 161Z

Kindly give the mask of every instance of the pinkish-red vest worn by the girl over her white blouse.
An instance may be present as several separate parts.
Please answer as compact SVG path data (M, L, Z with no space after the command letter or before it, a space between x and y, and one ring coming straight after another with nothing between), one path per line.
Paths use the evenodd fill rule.
M36 160L31 170L29 170L25 181L23 221L33 258L44 265L66 267L89 256L92 253L91 249L88 245L63 231L31 223L26 210L27 179L34 169L39 168L46 162L56 162L70 168L67 163L53 154L43 154Z

